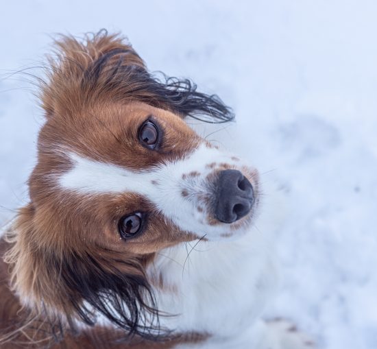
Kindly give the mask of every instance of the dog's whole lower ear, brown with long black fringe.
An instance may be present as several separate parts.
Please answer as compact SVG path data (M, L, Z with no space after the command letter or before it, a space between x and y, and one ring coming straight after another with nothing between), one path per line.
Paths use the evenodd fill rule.
M49 232L35 221L31 204L20 210L5 256L12 289L34 317L75 330L75 320L92 326L97 313L125 336L154 338L160 333L143 261L97 246L58 251L43 243Z

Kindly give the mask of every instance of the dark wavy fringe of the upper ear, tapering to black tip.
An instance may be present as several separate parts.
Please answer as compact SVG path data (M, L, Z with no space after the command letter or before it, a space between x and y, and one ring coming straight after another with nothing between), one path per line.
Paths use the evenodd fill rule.
M130 48L113 49L99 56L86 69L82 87L89 89L89 95L95 99L106 95L118 100L143 101L207 123L226 123L234 119L232 109L217 95L198 92L197 85L189 79L168 77L161 72L151 74L144 66L130 64L127 59L130 54L137 56Z

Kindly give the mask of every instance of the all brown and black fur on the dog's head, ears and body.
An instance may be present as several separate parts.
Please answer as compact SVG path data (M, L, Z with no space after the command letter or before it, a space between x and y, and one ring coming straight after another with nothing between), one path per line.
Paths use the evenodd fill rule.
M75 320L95 324L84 303L94 299L97 304L105 290L114 302L119 302L119 295L128 297L130 312L140 312L136 315L141 318L146 313L157 316L145 267L156 252L197 236L174 234L178 227L134 193L93 197L62 191L56 178L72 166L67 152L127 169L147 169L184 158L203 141L183 117L199 110L224 122L232 115L217 96L197 93L188 80L154 80L120 36L100 32L86 36L84 42L62 37L56 47L47 80L40 86L47 121L40 130L38 162L29 178L30 202L19 210L7 234L9 245L1 242L10 274L1 258L0 328L14 339L12 344L3 341L1 348L17 348L20 341L49 343L63 333L64 341L53 348L118 348L121 345L107 346L108 341L124 337L125 330L137 340L144 335L143 328L121 314L122 322L117 322L121 330L95 327L72 337ZM138 141L138 130L147 119L158 123L164 136L153 152ZM123 241L118 221L134 210L148 213L148 227ZM145 341L132 348L171 348L187 340L193 337L157 344Z

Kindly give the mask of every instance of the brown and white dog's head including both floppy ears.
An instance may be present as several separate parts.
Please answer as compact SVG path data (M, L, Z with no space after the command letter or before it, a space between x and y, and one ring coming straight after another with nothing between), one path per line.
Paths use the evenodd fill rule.
M189 115L232 119L216 96L156 80L117 36L58 46L42 86L31 202L8 255L13 285L71 324L93 324L99 311L145 335L141 323L158 315L146 265L178 243L243 234L258 174L186 125Z

